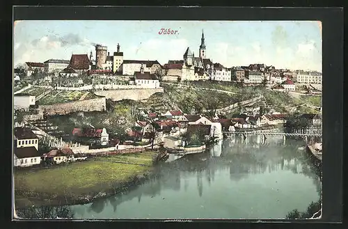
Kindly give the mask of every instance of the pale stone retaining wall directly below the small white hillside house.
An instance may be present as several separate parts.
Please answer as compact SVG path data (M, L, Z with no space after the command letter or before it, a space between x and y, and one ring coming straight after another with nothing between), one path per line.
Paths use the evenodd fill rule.
M155 93L163 93L163 88L128 89L128 90L96 90L95 95L106 97L113 101L120 100L145 100Z

